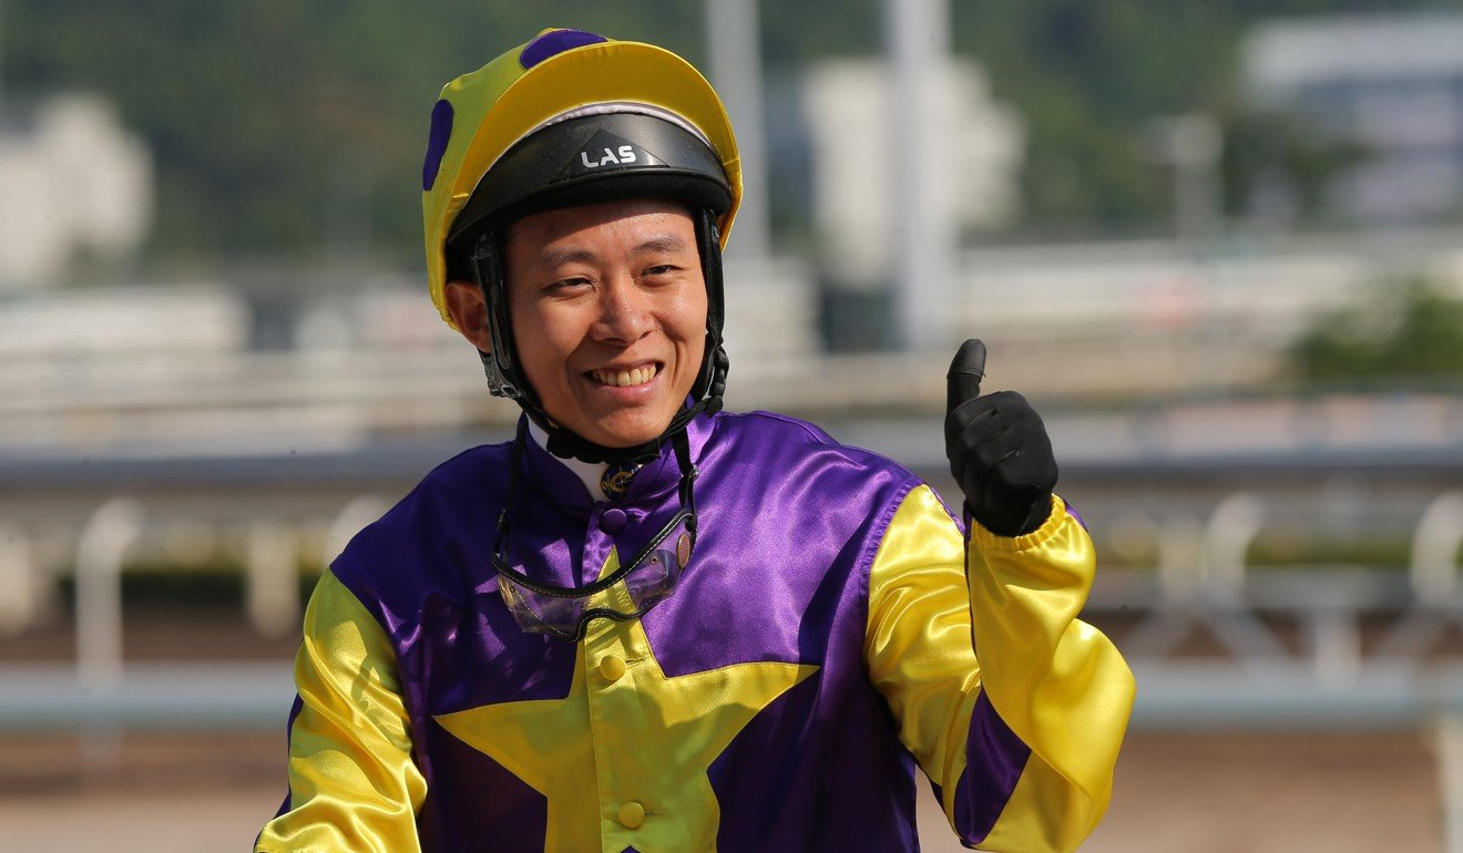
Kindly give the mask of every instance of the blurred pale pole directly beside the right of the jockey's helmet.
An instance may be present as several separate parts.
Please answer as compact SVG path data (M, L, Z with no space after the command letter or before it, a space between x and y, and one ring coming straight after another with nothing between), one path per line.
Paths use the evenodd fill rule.
M727 250L743 258L767 258L771 246L756 3L758 0L707 0L711 82L732 116L742 155L742 209L736 218L736 240Z

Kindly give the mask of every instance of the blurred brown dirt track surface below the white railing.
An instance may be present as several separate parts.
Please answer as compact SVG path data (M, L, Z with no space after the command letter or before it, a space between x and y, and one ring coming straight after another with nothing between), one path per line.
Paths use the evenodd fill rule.
M127 736L88 771L75 736L0 740L9 853L247 850L284 794L278 734ZM1096 853L1443 850L1434 759L1413 733L1134 733ZM923 847L960 850L932 800Z

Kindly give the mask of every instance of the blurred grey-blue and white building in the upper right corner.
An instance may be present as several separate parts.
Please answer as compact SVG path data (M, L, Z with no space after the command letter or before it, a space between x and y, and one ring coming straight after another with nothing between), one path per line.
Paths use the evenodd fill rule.
M1463 15L1280 20L1245 40L1252 99L1359 161L1324 187L1325 214L1402 224L1463 211Z

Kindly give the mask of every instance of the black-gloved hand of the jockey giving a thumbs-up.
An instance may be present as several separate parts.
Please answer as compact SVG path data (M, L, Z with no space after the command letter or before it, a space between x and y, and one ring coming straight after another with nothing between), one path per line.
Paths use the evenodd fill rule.
M947 375L945 455L966 493L966 512L999 536L1042 527L1052 509L1056 456L1042 418L1024 397L980 397L986 345L961 344Z

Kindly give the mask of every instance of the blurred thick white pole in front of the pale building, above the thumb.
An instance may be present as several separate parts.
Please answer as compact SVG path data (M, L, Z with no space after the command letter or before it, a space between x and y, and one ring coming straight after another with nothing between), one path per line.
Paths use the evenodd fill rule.
M941 211L935 92L949 57L947 0L885 0L894 66L894 313L904 350L944 347L955 224Z

